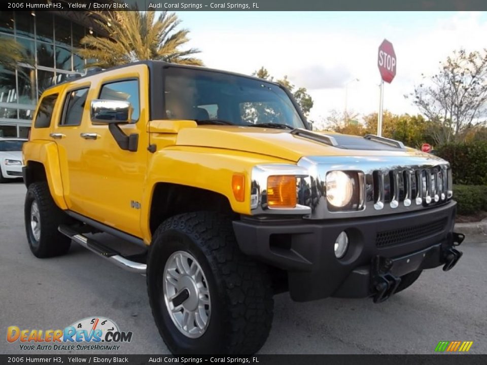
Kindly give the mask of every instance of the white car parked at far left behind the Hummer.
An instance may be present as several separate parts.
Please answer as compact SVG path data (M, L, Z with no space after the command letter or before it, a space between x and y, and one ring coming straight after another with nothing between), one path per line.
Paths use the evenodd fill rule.
M26 141L0 137L0 182L22 177L22 144Z

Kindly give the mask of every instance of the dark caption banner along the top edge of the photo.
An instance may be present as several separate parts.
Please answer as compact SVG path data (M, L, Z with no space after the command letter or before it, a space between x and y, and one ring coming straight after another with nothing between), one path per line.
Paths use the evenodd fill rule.
M485 0L2 0L16 11L467 11L487 10Z

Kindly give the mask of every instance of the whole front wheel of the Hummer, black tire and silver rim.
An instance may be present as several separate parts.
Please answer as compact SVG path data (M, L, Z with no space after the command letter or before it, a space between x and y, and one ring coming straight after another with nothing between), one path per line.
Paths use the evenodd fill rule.
M181 214L153 236L149 300L172 353L257 352L272 323L272 288L266 267L238 248L229 217Z

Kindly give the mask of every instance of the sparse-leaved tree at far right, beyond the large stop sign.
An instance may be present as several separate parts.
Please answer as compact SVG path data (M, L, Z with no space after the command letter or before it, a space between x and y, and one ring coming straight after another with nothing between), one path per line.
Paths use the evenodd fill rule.
M440 62L439 72L406 95L432 122L436 143L458 139L464 130L484 123L487 115L487 49L455 51Z

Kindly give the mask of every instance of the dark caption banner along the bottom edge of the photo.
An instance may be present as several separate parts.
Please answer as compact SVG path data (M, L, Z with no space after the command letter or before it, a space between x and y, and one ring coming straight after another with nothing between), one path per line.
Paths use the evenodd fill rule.
M5 364L484 365L487 355L0 355Z

